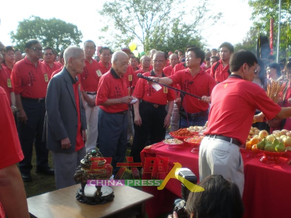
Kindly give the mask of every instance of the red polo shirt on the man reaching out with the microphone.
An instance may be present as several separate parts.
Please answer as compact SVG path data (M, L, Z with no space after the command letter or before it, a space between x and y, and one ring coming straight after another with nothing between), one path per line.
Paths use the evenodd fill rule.
M189 68L180 70L169 77L174 83L180 84L181 90L202 97L210 96L212 89L216 85L215 80L200 68L194 77L189 72ZM209 104L188 94L183 98L183 108L188 113L198 113L207 110Z

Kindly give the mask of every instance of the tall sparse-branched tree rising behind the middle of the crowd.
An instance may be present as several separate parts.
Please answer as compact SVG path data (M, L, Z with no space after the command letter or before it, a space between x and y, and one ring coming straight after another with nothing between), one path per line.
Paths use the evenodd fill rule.
M187 14L178 9L189 8L181 0L106 2L99 13L102 17L110 18L106 20L108 23L113 21L114 24L113 28L107 25L102 31L109 33L106 36L107 43L115 47L128 45L133 40L137 40L145 51L151 48L162 51L184 49L189 44L203 46L199 43L201 36L198 28L205 20L210 19L214 24L221 16L205 16L208 12L207 3L208 1L197 1L196 7ZM187 23L181 17L187 17ZM108 35L114 35L114 38L110 40Z

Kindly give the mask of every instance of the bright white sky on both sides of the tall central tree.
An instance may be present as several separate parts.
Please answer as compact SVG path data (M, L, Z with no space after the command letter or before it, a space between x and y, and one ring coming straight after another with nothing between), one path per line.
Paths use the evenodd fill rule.
M187 5L193 6L194 0L188 1ZM57 18L67 23L72 23L82 32L82 41L91 39L97 46L104 45L98 39L100 28L100 10L105 0L82 0L69 2L66 0L50 1L11 1L1 2L0 12L0 41L5 46L12 45L10 32L16 32L18 22L28 19L30 16L39 16L43 19ZM213 13L222 12L223 17L214 26L203 26L202 37L207 39L208 48L218 48L223 42L236 44L242 42L249 30L251 9L247 0L209 0L209 9ZM138 49L142 51L142 48Z

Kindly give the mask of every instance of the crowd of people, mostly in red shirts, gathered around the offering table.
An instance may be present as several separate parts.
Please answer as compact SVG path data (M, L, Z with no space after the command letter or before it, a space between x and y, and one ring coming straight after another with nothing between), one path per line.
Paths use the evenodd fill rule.
M143 148L163 140L169 127L175 131L207 123L199 152L200 181L222 175L242 195L239 146L245 143L250 126L268 129L271 122L266 124L265 119L285 124L291 116L291 60L276 63L272 55L257 59L249 51L234 52L228 42L208 51L194 46L185 52L151 49L138 58L127 47L97 51L92 40L82 48L70 46L56 54L52 47L43 48L31 39L25 44L25 57L18 53L0 43L0 104L11 108L5 106L1 115L16 124L5 131L19 137L18 142L7 142L14 143L16 153L9 166L15 169L19 162L24 182L32 181L33 145L36 172L54 175L59 189L75 184L76 168L92 150L98 148L112 158L116 176L127 147L134 162L140 163ZM270 79L288 83L280 105L266 94ZM49 151L53 169L48 164ZM0 162L1 171L7 167L5 160ZM25 196L21 190L19 198Z

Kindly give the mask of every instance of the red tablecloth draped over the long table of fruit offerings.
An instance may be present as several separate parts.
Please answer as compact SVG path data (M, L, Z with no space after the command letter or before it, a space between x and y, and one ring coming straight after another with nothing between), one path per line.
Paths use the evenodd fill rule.
M191 169L199 179L198 154L191 153L191 149L193 146L169 150L162 142L145 148L141 152L143 179L164 179L166 166L170 171L175 162ZM279 164L260 162L262 155L242 150L244 218L291 218L291 166L288 165L291 155L279 157ZM149 164L150 158L158 162ZM143 190L155 196L146 203L146 213L149 218L156 218L172 210L174 200L180 197L181 183L170 179L162 190L157 187L143 187Z

